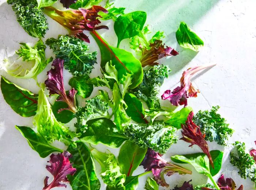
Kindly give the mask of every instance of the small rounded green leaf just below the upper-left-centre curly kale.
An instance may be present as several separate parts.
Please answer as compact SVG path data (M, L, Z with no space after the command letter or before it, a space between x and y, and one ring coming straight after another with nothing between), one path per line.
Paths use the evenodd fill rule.
M82 96L83 98L88 98L93 92L93 84L87 83L90 77L88 75L84 75L81 77L73 77L69 80L68 84L77 90L77 94Z

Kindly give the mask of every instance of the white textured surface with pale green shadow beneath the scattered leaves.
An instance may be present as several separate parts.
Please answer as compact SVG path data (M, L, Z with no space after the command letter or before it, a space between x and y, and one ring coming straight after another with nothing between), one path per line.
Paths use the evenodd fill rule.
M115 5L116 7L128 7L126 12L146 11L148 15L146 23L150 25L152 31L164 31L165 43L180 52L180 55L176 57L162 60L163 64L169 65L173 70L170 78L163 85L162 92L167 88L176 87L182 71L188 67L217 63L214 68L193 78L193 84L200 89L201 93L197 98L189 98L188 105L192 106L195 112L199 109L210 109L213 105L220 105L219 112L230 123L230 127L235 129L230 143L241 140L246 143L248 149L253 147L253 141L256 140L256 1L117 0ZM203 39L205 45L199 53L181 49L178 46L175 32L180 21L187 23ZM67 31L53 20L48 19L48 23L49 31L45 39L66 34ZM110 44L116 45L113 23L112 21L106 23L110 30L101 30L99 33ZM19 26L11 5L7 5L4 0L0 0L0 26L0 60L13 55L15 50L19 49L19 42L35 43L37 41ZM93 38L90 37L90 39L92 41L90 50L98 51ZM122 48L127 42L128 40L124 40L120 47ZM47 50L47 55L51 55L49 50ZM98 55L98 62L99 60ZM41 82L46 79L46 71L49 68L50 65L39 75ZM96 70L99 70L99 64L93 71L92 77L99 74ZM3 75L23 88L38 92L33 80L17 80L5 73ZM65 72L64 80L67 89L69 77L71 77L70 74ZM16 114L4 101L2 94L0 94L0 102L0 190L41 190L45 176L50 176L45 169L49 158L40 158L14 127L14 125L32 126L32 117L23 118ZM165 105L170 104L166 101ZM170 155L200 151L198 147L188 148L188 145L188 143L178 141L164 157L170 160ZM209 146L210 150L225 151L220 173L225 174L225 177L233 178L237 185L243 184L245 190L253 189L253 183L249 179L241 179L236 168L229 163L228 155L231 146L225 148L216 143L209 143ZM105 146L98 147L100 150L106 149ZM118 150L113 150L113 152L118 154ZM185 167L191 168L188 165ZM139 167L134 174L142 171L142 167ZM207 181L204 175L197 174L195 170L192 171L193 175L173 175L166 178L170 184L169 189L190 179L195 185ZM220 173L215 176L215 179ZM140 179L138 189L143 189L145 181L146 176ZM102 185L102 189L105 189L103 187L105 185ZM64 189L59 188L59 190ZM71 190L69 185L67 190Z

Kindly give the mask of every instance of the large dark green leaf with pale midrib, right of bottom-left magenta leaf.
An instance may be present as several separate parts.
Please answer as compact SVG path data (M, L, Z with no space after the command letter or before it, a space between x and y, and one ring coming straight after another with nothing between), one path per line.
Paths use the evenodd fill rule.
M68 180L73 190L99 190L101 184L95 172L95 164L87 146L76 141L76 147L69 145L68 152L72 154L69 158L76 168L74 175L68 175Z

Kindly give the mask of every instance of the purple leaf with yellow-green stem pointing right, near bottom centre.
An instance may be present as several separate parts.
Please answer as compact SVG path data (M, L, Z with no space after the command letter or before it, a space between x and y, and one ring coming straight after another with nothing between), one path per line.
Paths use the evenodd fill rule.
M154 180L163 187L169 187L166 183L164 175L173 175L174 173L179 174L191 174L190 170L187 170L178 165L167 162L162 159L162 155L148 148L147 153L140 165L142 165L145 171L152 170Z

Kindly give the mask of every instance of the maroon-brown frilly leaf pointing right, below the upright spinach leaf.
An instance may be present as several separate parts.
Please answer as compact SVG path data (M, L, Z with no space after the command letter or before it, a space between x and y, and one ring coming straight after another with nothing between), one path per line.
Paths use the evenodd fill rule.
M140 62L143 67L147 65L158 65L158 63L156 63L158 59L166 56L175 56L178 54L179 53L173 48L168 46L164 47L161 40L155 40L154 43L150 44L150 50L147 50L146 48L142 49L142 57L140 58Z

